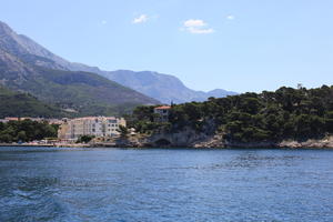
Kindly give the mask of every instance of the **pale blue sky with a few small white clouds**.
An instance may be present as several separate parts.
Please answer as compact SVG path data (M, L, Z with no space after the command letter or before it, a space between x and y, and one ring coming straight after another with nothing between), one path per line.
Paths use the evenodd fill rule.
M332 0L0 0L0 20L103 70L158 71L194 90L333 84Z

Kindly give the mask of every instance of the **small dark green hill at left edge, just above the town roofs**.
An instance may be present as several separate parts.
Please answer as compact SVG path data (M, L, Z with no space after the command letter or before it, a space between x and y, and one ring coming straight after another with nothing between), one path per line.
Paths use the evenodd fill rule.
M6 117L42 117L59 118L70 113L43 103L28 93L14 92L0 85L0 118Z

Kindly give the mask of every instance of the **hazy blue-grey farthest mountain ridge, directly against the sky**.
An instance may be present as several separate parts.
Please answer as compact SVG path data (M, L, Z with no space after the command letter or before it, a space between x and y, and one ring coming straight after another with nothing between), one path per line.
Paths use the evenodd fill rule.
M191 90L178 78L170 74L161 74L151 71L134 72L130 70L103 71L97 67L69 62L53 54L28 37L17 34L3 22L0 22L0 46L4 46L6 51L19 56L26 62L50 69L98 73L163 103L170 103L171 101L175 103L204 101L210 97L222 98L238 94L236 92L221 89L210 92Z

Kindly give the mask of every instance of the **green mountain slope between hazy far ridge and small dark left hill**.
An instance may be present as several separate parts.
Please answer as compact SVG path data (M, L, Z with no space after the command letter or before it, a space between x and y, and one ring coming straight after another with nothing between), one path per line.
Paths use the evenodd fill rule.
M157 100L94 73L51 70L22 62L0 49L0 79L14 91L24 91L46 103L72 109L78 115L114 115Z

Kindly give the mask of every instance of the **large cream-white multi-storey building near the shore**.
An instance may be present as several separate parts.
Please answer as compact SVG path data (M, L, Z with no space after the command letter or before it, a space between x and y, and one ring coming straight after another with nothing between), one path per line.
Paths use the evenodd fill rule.
M81 135L114 137L119 135L119 127L125 127L123 118L87 117L65 120L59 128L59 139L77 140Z

